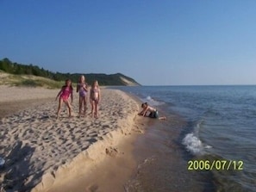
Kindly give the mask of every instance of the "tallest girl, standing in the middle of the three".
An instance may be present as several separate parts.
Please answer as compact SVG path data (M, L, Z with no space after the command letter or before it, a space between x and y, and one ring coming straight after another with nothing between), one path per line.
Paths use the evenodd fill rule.
M83 104L84 104L84 116L85 116L87 91L88 89L87 89L87 84L85 83L85 77L82 75L77 85L77 92L79 92L79 117L82 114Z

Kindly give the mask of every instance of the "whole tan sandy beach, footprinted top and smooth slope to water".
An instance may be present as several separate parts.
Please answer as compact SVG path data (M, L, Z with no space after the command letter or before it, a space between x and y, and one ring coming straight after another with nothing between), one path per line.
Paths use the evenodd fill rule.
M81 178L86 181L82 191L104 191L100 186L104 183L92 180L115 175L112 165L126 173L117 174L116 181L131 174L134 162L128 154L144 122L136 116L138 102L121 90L102 89L98 119L89 115L89 101L87 115L78 118L74 93L72 118L63 107L59 120L55 115L59 90L1 85L0 92L0 158L5 160L1 191L68 191L70 183L81 183ZM101 166L103 172L95 173Z

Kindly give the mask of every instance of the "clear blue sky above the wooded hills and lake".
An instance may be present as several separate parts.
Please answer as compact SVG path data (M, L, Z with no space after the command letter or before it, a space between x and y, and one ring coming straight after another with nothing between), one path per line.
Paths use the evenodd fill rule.
M0 0L0 59L144 85L256 84L254 0Z

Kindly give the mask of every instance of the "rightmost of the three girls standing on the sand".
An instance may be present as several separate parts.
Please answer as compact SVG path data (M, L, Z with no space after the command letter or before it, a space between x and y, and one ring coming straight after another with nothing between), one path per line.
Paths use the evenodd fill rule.
M97 81L91 85L90 102L91 102L91 117L98 117L98 103L101 99L101 91L99 89Z

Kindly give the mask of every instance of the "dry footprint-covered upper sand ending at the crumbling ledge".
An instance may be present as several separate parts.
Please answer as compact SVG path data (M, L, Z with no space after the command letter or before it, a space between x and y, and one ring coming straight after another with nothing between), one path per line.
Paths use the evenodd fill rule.
M27 88L13 89L0 87L5 92L2 102L53 98L59 91L34 89L28 94ZM10 98L14 91L16 96ZM67 118L63 108L56 120L58 102L53 100L3 117L0 158L6 163L0 168L1 191L28 191L34 186L33 191L47 191L57 178L79 171L81 164L100 162L106 155L115 157L115 145L134 129L138 103L120 90L102 92L98 119L89 115L89 102L87 115L78 118L76 94L72 118Z

